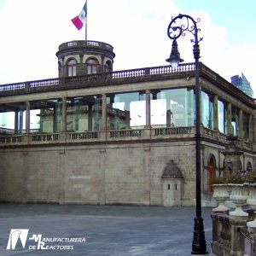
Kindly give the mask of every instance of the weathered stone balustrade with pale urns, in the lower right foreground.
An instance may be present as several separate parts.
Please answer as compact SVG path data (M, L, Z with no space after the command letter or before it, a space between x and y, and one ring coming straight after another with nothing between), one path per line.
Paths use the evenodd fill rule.
M212 256L256 255L256 184L213 187L219 205L212 210Z

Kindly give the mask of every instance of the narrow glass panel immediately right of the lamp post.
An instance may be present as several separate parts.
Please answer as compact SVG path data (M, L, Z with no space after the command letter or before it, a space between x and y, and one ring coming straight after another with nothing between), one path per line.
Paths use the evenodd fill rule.
M201 122L205 127L213 129L213 99L204 91L201 91Z

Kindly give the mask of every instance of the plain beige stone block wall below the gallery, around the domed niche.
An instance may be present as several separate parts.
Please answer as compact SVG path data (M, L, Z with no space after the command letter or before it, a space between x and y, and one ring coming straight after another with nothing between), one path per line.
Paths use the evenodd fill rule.
M194 204L195 143L113 143L0 150L0 201L163 205L166 163Z

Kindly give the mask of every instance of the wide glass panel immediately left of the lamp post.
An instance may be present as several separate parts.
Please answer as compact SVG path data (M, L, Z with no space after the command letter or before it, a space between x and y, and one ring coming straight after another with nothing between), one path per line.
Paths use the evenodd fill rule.
M194 90L189 88L151 92L151 125L193 126L195 124Z

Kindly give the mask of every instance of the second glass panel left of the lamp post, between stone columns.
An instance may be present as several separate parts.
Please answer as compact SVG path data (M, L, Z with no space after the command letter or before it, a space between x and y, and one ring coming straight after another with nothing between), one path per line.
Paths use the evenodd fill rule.
M107 129L143 128L146 125L145 94L128 92L107 97Z

